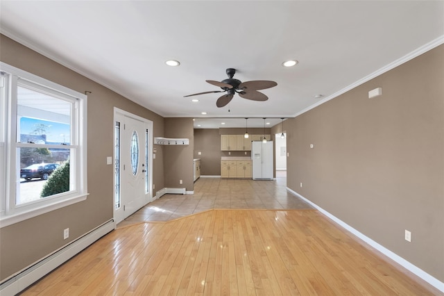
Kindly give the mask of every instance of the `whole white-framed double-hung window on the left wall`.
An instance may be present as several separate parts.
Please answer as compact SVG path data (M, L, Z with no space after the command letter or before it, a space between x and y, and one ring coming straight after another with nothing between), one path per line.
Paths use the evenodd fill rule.
M5 227L86 198L87 97L4 63L0 79Z

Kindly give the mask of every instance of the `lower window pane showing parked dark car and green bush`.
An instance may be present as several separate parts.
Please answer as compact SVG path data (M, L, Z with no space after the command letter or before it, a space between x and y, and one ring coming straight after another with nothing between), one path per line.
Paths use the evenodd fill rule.
M15 204L34 202L72 190L69 158L71 149L17 148L20 170L17 172Z

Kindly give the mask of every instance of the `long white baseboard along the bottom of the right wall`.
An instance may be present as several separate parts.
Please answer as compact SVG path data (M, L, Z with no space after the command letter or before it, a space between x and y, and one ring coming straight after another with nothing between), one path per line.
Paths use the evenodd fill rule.
M391 260L393 260L396 263L402 265L402 267L404 267L407 270L413 272L413 274L416 274L416 276L418 276L421 279L427 281L427 283L431 284L432 286L434 286L438 290L441 290L441 292L444 293L444 283L442 281L436 279L435 277L433 277L432 275L428 274L424 270L418 268L416 265L413 265L412 263L410 263L409 261L405 260L401 256L391 252L391 250L386 249L386 247L384 247L382 245L379 245L379 243L375 242L375 240L372 240L368 236L365 236L363 233L360 233L359 231L357 231L356 229L354 229L353 227L351 227L347 223L343 222L339 218L337 218L334 215L332 215L332 214L328 213L327 211L325 211L323 208L321 208L317 204L314 204L314 202L311 202L309 199L306 199L305 197L300 195L298 192L293 191L293 190L291 190L288 187L287 187L287 190L289 190L289 192L293 193L293 195L296 195L296 196L300 197L301 199L304 199L305 202L311 204L311 206L314 206L314 208L316 208L318 211L320 211L325 216L330 218L330 220L333 220L334 222L339 224L341 227L343 227L345 230L350 231L350 233L352 233L353 235L357 236L357 238L363 240L364 242L366 242L371 247L374 247L375 249L377 249L379 252L381 252L382 254L387 256L388 258L391 258Z

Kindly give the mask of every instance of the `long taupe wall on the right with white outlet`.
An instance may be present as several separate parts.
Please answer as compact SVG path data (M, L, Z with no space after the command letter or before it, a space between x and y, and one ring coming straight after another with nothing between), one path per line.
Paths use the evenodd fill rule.
M288 187L440 281L443 65L440 46L285 121Z

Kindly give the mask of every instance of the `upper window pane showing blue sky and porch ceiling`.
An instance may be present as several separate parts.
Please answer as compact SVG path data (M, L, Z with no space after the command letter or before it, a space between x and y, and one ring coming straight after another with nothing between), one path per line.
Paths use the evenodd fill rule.
M17 142L69 145L71 105L69 101L18 87Z

